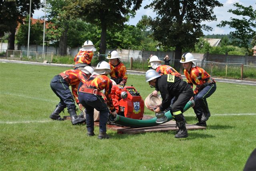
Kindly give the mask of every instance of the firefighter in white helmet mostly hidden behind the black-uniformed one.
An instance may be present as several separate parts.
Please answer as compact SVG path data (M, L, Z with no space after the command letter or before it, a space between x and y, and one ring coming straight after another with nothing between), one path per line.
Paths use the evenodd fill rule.
M177 72L174 68L172 68L171 66L168 66L168 65L162 65L161 61L158 56L151 56L150 57L150 66L156 70L156 72L159 74L159 75L164 75L164 74L171 74L171 75L174 75L174 76L177 76L179 77L181 80L182 79L182 76L179 72ZM153 95L156 96L158 94L158 89L155 89L153 92ZM175 97L174 97L175 99ZM173 99L173 100L174 100Z

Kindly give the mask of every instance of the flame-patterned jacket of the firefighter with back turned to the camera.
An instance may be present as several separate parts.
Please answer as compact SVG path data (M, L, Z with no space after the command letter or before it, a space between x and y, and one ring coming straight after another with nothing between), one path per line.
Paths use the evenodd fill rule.
M114 105L111 99L111 89L112 89L112 81L105 75L93 75L86 80L86 82L80 87L79 91L82 88L91 88L98 89L99 91L105 89L105 96L107 99L107 105L111 111L113 111Z

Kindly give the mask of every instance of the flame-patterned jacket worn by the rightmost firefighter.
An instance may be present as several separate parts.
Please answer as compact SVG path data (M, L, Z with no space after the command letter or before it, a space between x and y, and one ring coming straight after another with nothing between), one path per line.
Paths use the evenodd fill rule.
M197 94L201 91L206 85L216 83L215 80L208 74L204 69L195 66L188 70L184 70L184 74L187 78L187 82L191 88L193 88L193 84L196 85L194 89L194 94Z

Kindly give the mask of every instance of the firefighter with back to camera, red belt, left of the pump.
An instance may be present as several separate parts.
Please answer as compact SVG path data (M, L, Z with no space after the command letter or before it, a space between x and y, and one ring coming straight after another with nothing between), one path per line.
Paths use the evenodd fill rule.
M87 135L94 136L94 109L100 112L100 132L99 139L108 139L109 136L106 133L106 124L108 121L108 113L116 116L116 109L113 106L110 96L112 82L108 78L110 74L110 66L107 62L99 62L94 69L95 75L91 76L80 87L78 93L78 99L80 103L85 107L86 113L86 127ZM105 93L101 90L105 89ZM106 103L104 101L106 99ZM109 109L108 109L109 107Z

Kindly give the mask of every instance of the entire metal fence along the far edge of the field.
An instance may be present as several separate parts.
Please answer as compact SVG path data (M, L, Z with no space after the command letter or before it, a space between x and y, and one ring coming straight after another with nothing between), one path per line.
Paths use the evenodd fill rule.
M46 52L42 54L42 52L6 50L6 59L35 62L44 62L47 60L52 63L53 58L53 53ZM163 58L164 57L160 57L160 60L163 60ZM92 66L96 66L100 60L106 60L108 62L105 54L95 54L92 58ZM146 71L149 69L148 66L150 65L148 64L148 60L144 58L121 57L121 60L128 70ZM180 60L170 59L170 66L174 67L174 63L176 63L176 67L174 68L181 74L184 74L184 69L179 61ZM196 66L204 68L204 70L213 77L256 80L256 66L254 65L202 61L195 61L195 63Z

